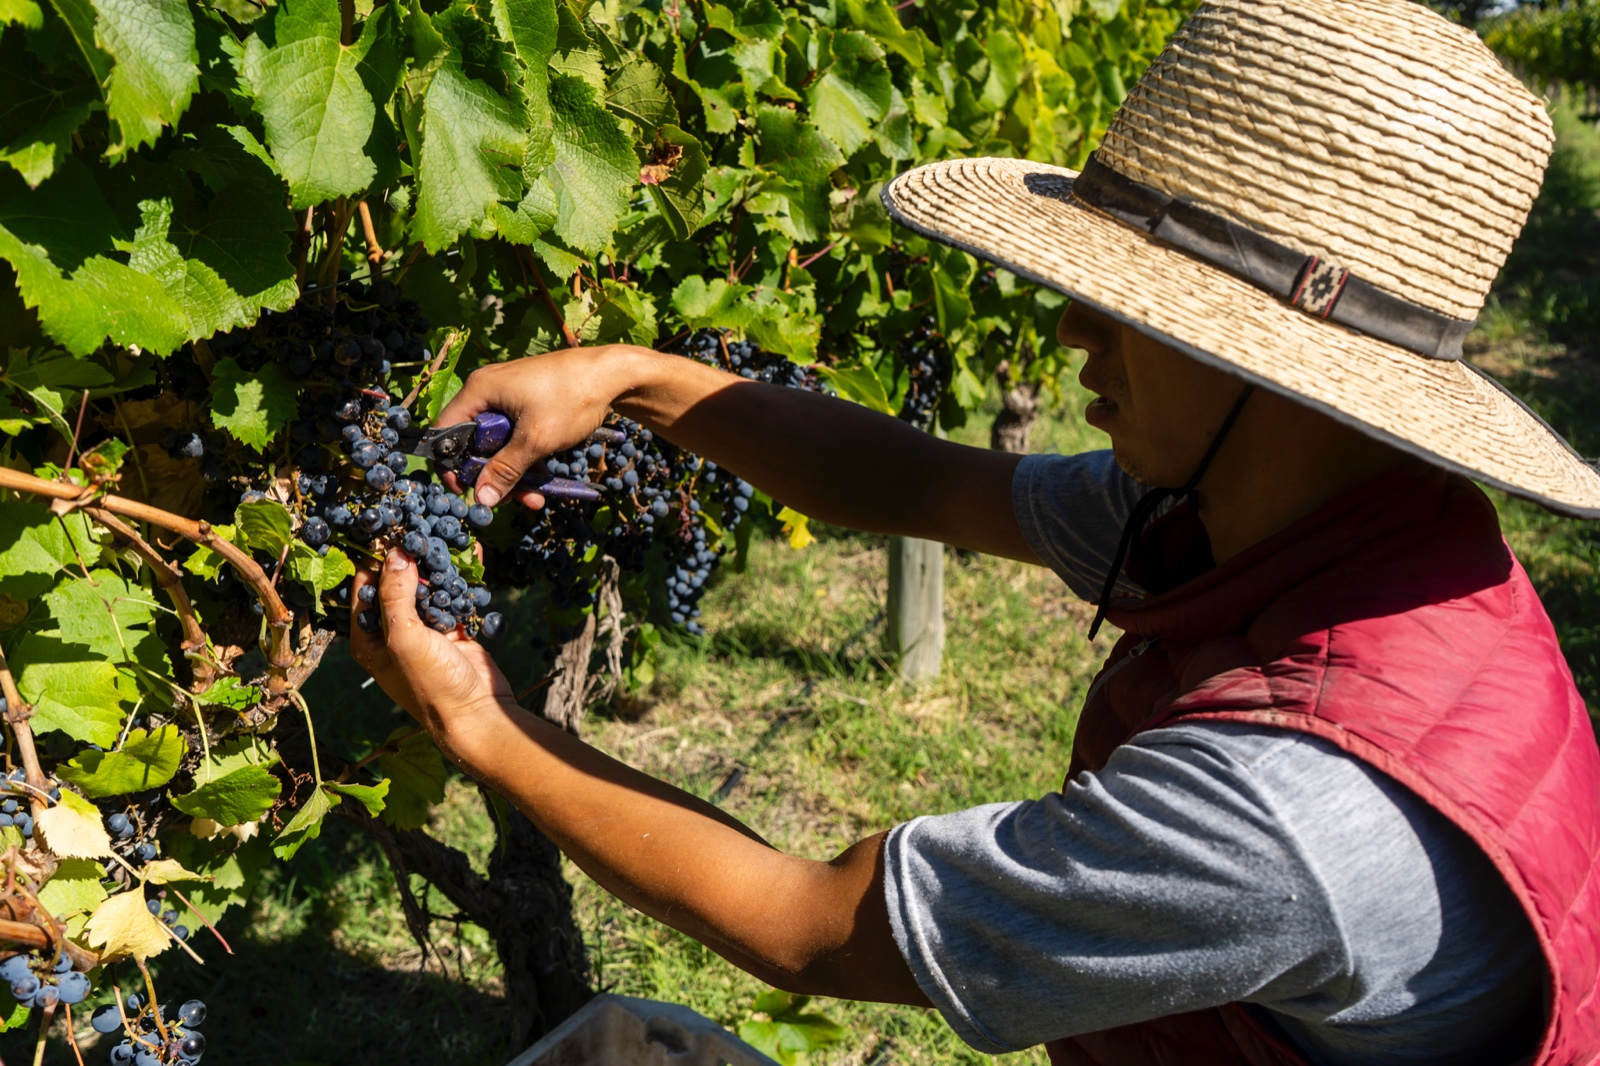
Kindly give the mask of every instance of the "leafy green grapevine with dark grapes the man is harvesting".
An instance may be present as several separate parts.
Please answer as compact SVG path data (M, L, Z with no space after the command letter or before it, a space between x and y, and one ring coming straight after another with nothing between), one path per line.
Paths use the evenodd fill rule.
M1024 343L1053 373L1051 298L878 189L1080 166L1192 0L139 6L0 5L0 1029L42 1053L80 1008L94 1055L194 1061L203 1007L146 960L226 965L222 914L336 815L491 930L525 1045L589 994L549 842L498 812L483 876L424 829L426 735L314 738L307 679L378 621L355 570L408 552L427 623L482 640L526 597L525 698L578 728L805 517L621 418L534 471L570 495L490 512L416 434L477 367L573 346L923 427Z

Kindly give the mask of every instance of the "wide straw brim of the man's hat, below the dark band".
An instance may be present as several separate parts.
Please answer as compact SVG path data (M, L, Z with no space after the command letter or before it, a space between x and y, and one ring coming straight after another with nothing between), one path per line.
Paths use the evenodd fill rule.
M1600 471L1488 375L1312 319L1074 200L1075 178L1018 158L949 160L891 181L883 205L1190 359L1558 514L1600 519Z

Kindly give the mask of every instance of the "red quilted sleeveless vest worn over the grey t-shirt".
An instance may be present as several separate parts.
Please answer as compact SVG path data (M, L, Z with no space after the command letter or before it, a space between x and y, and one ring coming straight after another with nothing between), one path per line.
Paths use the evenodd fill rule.
M1069 778L1174 719L1333 741L1461 826L1522 901L1550 973L1533 1061L1600 1060L1600 752L1490 501L1408 467L1208 563L1187 504L1141 538L1130 576L1154 594L1107 615L1125 635L1091 688ZM1302 1061L1238 1004L1048 1050L1058 1066Z

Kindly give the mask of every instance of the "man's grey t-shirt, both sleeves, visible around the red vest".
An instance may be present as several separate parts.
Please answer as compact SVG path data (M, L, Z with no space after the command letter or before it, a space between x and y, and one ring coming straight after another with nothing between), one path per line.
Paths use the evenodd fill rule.
M1098 595L1141 491L1109 453L1032 456L1016 515ZM918 984L982 1052L1235 1000L1326 1066L1506 1064L1542 1028L1542 956L1488 858L1290 730L1150 730L1064 792L917 818L885 892Z

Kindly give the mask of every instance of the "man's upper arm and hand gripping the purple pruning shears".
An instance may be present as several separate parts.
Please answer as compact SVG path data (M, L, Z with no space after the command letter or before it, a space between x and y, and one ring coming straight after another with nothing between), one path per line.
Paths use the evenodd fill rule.
M1018 456L939 440L845 400L614 344L485 367L438 421L485 410L515 421L478 475L486 503L614 410L822 522L1038 562L1011 506Z

